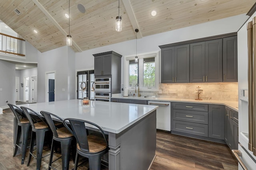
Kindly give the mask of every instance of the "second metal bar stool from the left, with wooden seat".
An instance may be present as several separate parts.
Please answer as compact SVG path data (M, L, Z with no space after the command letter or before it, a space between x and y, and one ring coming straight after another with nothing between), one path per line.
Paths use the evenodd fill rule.
M42 161L42 152L44 147L44 136L46 131L50 131L50 128L48 127L48 124L44 121L44 119L40 115L38 115L38 113L36 113L34 110L29 109L27 107L23 107L23 106L21 106L20 108L24 111L27 119L29 120L32 126L30 154L29 154L27 166L29 166L31 158L33 156L36 159L36 170L40 170L41 161ZM37 117L37 119L40 119L40 121L34 121L34 119L32 119L32 115ZM33 155L35 140L36 140L36 156Z

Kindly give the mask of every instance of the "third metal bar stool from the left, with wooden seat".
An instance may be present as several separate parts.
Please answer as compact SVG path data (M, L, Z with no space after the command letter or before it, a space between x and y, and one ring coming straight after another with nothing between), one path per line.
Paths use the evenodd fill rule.
M53 133L52 147L51 147L48 170L50 170L51 168L56 170L55 168L52 167L52 163L54 161L58 160L59 158L54 161L52 161L52 158L53 158L53 154L54 154L54 147L57 144L57 142L60 142L60 147L61 147L62 170L68 170L70 150L71 150L71 146L72 146L72 141L75 142L75 138L74 138L73 134L66 127L58 128L54 125L54 121L52 120L52 118L63 121L62 118L60 118L57 115L54 115L52 113L46 112L46 111L40 111L40 113L44 116L45 120L47 121L47 123L50 126L52 133ZM73 144L74 144L73 146L75 146L75 143L73 143ZM73 149L72 149L73 156L76 153L75 150L76 150L76 148L73 147ZM73 157L73 160L74 160L74 157Z

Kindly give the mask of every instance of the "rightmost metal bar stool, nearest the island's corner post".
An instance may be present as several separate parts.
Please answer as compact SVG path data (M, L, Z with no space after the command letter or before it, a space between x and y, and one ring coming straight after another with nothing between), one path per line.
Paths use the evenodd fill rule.
M68 126L68 123L71 126ZM93 125L100 133L88 134L86 125ZM78 167L79 155L89 159L90 170L100 170L101 156L108 152L108 141L101 127L90 121L67 118L63 120L64 126L76 137L76 160L74 170Z

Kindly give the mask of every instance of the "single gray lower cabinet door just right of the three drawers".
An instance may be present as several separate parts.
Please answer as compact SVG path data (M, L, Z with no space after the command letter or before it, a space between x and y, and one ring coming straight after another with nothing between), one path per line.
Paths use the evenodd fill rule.
M224 140L224 106L209 104L209 137Z

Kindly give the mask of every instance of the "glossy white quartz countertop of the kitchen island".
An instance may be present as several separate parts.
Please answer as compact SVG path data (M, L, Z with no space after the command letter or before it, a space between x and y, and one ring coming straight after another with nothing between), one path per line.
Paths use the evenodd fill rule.
M82 100L78 99L20 106L28 107L38 113L48 111L63 119L75 118L91 121L99 125L104 131L111 133L120 133L158 107L93 100L90 100L89 106L83 106Z

